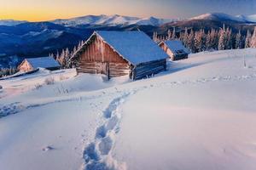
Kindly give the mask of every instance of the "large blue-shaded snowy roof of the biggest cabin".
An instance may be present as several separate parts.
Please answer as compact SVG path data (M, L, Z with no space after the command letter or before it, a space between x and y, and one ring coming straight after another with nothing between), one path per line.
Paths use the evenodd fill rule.
M96 31L95 34L133 65L168 58L143 31Z

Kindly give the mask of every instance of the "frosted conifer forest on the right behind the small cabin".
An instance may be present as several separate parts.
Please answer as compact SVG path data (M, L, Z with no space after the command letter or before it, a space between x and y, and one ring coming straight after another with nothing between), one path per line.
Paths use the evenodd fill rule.
M155 42L179 39L191 50L192 53L198 53L209 50L255 48L256 47L256 27L253 32L247 31L247 35L241 35L241 31L234 33L229 27L223 26L218 30L193 31L185 29L184 31L168 30L166 35L158 35L154 32Z

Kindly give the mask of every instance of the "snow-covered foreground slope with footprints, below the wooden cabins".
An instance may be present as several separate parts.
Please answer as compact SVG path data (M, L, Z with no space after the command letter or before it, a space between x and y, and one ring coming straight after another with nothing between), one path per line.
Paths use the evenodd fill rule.
M75 70L0 81L0 167L254 170L255 84L255 48L190 54L136 82Z

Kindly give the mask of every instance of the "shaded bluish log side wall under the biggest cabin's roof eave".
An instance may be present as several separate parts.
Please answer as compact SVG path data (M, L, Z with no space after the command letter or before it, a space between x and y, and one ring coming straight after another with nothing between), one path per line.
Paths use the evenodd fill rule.
M137 65L133 70L133 79L141 79L143 77L151 76L159 73L160 71L166 71L166 59L160 59Z

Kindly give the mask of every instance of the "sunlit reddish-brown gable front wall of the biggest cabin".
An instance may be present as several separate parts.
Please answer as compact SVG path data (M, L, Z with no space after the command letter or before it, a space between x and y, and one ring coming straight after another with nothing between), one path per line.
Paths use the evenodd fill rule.
M101 37L92 37L91 42L79 54L79 72L105 74L109 78L130 74L130 65Z

